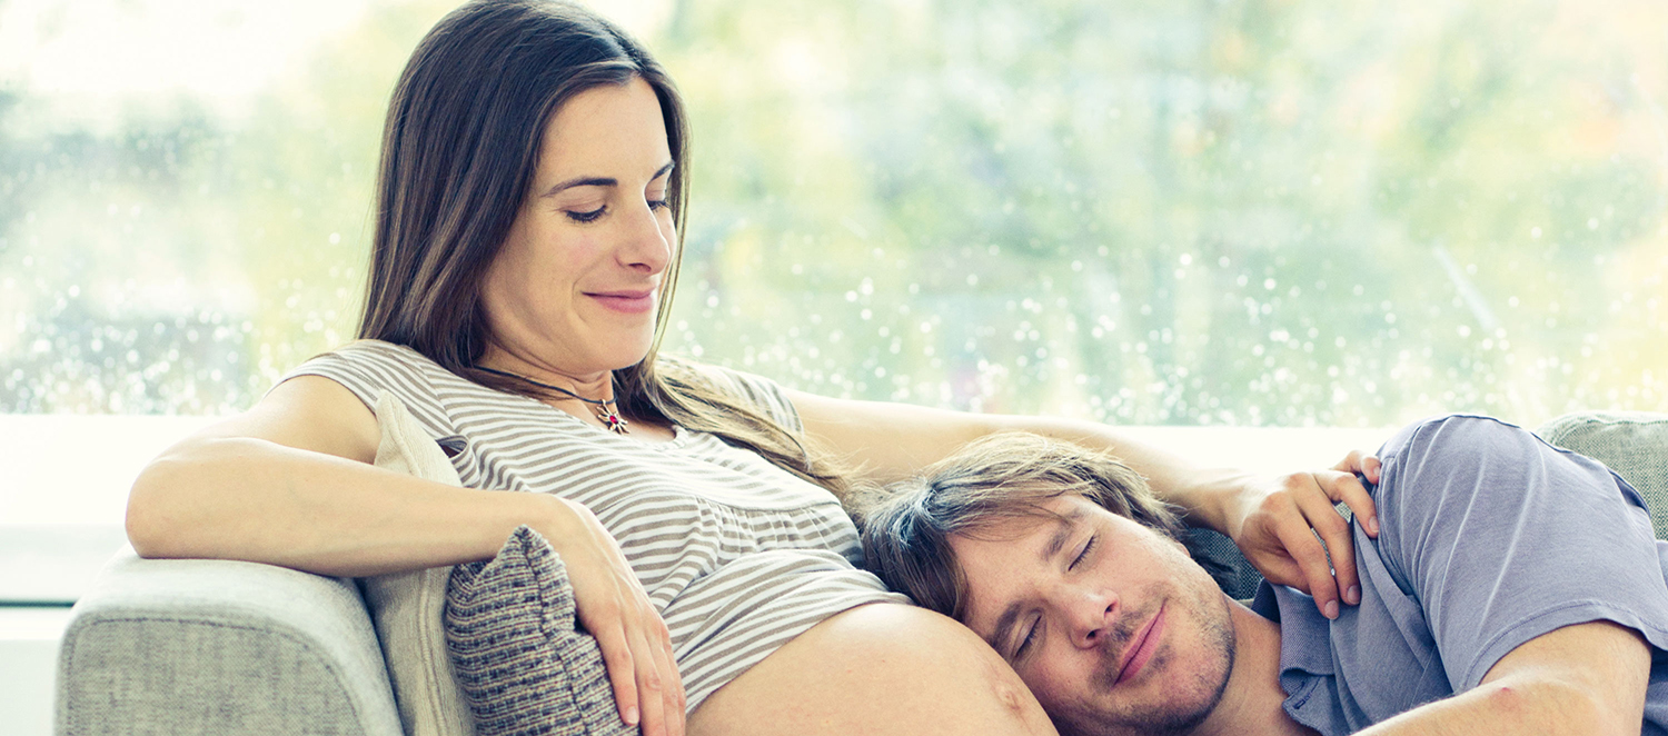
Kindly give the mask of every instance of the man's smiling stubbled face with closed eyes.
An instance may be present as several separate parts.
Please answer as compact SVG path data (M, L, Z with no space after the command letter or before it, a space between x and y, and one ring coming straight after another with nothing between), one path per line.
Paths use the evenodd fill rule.
M1074 494L1059 514L952 536L964 624L1068 733L1163 734L1199 724L1233 669L1221 591L1174 541Z

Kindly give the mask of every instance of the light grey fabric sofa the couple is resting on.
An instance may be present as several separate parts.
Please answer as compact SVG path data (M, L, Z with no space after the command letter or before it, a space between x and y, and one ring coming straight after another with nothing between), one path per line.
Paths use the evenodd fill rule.
M1626 477L1651 504L1656 536L1668 537L1668 414L1571 414L1540 434ZM63 634L57 731L399 736L402 728L354 581L123 551Z

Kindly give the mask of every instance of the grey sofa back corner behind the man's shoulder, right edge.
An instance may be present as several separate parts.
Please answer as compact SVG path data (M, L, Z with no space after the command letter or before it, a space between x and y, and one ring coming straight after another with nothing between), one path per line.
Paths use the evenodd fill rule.
M1656 539L1668 539L1668 414L1575 412L1543 424L1536 434L1616 471L1645 496Z

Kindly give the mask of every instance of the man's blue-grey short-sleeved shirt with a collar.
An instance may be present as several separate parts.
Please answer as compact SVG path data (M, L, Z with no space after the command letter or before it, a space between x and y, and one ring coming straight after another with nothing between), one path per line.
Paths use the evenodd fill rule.
M1354 524L1361 604L1336 621L1264 582L1286 713L1346 734L1476 688L1536 636L1615 621L1653 644L1645 734L1668 734L1668 542L1605 466L1486 417L1403 429L1379 449L1379 537Z

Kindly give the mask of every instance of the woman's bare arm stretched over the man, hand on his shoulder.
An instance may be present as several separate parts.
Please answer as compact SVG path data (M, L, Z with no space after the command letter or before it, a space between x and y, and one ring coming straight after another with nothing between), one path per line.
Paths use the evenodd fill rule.
M789 399L814 442L859 466L862 479L882 484L906 479L991 432L1027 431L1111 451L1146 476L1159 497L1184 507L1189 524L1228 534L1264 577L1309 592L1323 614L1336 618L1339 599L1359 602L1349 526L1333 502L1346 502L1368 532L1378 534L1373 499L1354 477L1363 472L1376 482L1373 457L1351 454L1331 471L1263 477L1189 462L1096 422L967 414L797 391L789 391ZM1334 552L1331 559L1328 549Z

